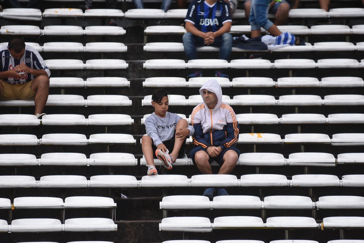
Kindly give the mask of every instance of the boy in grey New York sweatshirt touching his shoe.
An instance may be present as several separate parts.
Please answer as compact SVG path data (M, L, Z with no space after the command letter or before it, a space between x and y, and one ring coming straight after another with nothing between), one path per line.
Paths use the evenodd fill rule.
M194 128L185 119L167 112L168 104L166 90L157 89L153 92L154 112L145 119L147 135L142 137L142 150L148 164L147 175L158 175L154 158L161 160L163 166L171 170L172 163L185 155L186 137L194 133Z

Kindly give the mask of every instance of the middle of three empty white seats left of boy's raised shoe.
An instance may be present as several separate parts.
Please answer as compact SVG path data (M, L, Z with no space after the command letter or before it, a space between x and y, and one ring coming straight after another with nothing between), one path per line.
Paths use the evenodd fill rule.
M87 166L86 155L80 153L47 153L40 157L41 166Z

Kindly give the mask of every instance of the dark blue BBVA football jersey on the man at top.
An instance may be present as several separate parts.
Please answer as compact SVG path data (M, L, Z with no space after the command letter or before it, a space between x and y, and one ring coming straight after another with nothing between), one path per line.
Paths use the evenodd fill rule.
M193 0L185 21L193 23L199 31L205 33L218 31L225 22L232 21L229 4L222 0L213 5L205 0Z

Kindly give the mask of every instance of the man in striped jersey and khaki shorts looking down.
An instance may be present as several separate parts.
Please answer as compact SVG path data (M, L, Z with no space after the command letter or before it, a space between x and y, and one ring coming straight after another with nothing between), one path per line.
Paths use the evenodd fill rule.
M0 100L34 100L35 115L44 115L51 72L36 49L13 38L0 48Z

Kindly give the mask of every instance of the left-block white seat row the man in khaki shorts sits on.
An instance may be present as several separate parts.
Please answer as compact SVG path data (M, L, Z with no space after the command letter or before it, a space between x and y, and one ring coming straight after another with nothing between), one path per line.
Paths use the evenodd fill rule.
M132 101L124 95L49 95L47 106L131 106ZM34 100L0 101L1 106L34 106Z

